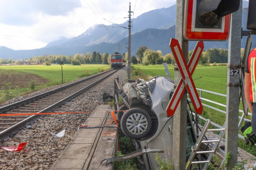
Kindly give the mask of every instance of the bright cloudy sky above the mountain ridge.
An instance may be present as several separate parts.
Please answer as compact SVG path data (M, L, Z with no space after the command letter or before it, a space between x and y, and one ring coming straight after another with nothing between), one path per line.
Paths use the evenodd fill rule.
M0 0L0 46L40 49L61 37L76 37L95 24L122 24L128 20L129 3L132 18L137 18L176 0Z

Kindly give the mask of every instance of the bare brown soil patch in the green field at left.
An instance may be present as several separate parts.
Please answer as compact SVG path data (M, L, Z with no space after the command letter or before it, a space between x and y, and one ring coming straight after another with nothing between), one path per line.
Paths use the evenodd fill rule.
M49 80L40 77L38 75L32 75L28 73L21 73L13 70L0 69L0 88L4 87L4 83L10 83L11 88L27 88L29 87L29 82L32 80L36 81L36 85L42 85L49 82Z

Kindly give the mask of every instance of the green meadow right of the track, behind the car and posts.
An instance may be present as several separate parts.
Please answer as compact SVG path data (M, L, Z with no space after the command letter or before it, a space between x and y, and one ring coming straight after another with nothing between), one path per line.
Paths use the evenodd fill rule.
M149 65L149 66L132 65L132 68L133 68L133 74L134 74L134 71L137 71L136 76L134 76L134 78L142 77L145 80L149 80L150 78L157 75L162 75L166 77L166 73L163 65ZM168 69L169 69L169 74L171 76L171 79L174 80L174 66L168 65ZM208 90L211 92L221 93L225 95L227 93L227 86L226 86L227 77L228 77L227 66L197 66L192 75L196 88L202 89L202 90ZM199 90L198 90L198 94L200 95ZM207 92L202 92L202 97L205 99L209 99L211 101L215 101L223 105L226 105L226 97L222 97L222 96L207 93ZM213 106L220 110L226 111L226 107L224 106L219 106L207 101L202 101L202 103ZM240 101L239 109L243 110L241 101ZM239 113L239 115L241 116L241 113ZM224 122L226 121L226 114L223 114L221 112L218 112L206 106L203 106L202 116L206 119L210 119L214 123L217 123L218 125L221 125L221 126L223 126ZM250 116L246 116L246 118L250 120ZM215 129L215 127L212 125L211 125L211 128ZM241 134L240 130L239 130L239 133ZM238 146L239 148L242 148L248 153L256 156L256 147L245 145L245 142L241 139L238 140Z

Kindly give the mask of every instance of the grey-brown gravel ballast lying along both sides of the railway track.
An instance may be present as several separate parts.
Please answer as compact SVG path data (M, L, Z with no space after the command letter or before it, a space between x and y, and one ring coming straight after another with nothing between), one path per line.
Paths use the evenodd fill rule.
M107 104L102 100L102 93L114 93L114 78L119 82L127 80L127 67L114 73L107 80L100 82L96 88L85 92L72 101L66 102L54 112L91 112L97 105ZM62 86L62 85L60 85ZM11 99L0 106L8 105L33 95L55 89L60 86L49 87L38 92ZM1 170L44 170L49 169L65 149L76 133L77 127L84 123L90 113L83 114L55 114L42 116L40 119L28 123L13 137L0 141L0 146L15 146L27 142L25 150L8 152L0 149ZM50 134L66 130L62 138L55 138Z

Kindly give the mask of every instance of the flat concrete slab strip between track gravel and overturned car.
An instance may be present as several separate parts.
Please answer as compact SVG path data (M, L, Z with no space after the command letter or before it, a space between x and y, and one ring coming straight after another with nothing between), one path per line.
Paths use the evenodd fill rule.
M84 123L88 127L116 126L111 113L104 112L108 105L99 105ZM100 166L100 162L115 156L117 128L79 129L73 140L60 154L51 170L112 170L113 164Z

